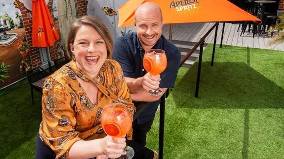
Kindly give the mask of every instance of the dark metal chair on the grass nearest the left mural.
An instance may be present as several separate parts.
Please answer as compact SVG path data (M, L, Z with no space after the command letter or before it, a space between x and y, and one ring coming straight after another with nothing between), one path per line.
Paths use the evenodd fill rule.
M46 72L41 67L34 68L34 69L27 72L26 76L27 76L27 80L28 80L28 83L29 83L30 89L31 89L32 104L34 103L33 90L36 90L36 91L40 92L41 94L43 94L43 88L37 87L37 86L33 85L33 83L47 77L48 75L50 75L50 73Z

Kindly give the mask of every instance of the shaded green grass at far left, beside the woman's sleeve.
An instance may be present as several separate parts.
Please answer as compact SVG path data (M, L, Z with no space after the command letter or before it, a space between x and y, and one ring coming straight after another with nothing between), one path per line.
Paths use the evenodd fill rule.
M26 152L26 149L34 149L34 143L24 144L35 138L41 121L40 93L34 91L34 99L35 103L32 105L28 83L0 96L0 159L4 159L14 151L17 151L15 154L19 154L22 158L33 157L33 154L23 154L23 152Z

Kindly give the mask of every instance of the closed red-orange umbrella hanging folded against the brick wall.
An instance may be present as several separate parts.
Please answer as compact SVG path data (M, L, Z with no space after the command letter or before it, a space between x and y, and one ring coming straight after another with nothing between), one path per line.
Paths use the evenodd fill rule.
M32 46L52 46L59 35L45 0L32 0Z

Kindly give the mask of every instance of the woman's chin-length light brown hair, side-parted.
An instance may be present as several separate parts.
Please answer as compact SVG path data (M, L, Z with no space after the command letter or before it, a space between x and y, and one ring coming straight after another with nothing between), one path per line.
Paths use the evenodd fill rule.
M114 50L114 43L112 40L112 36L110 34L109 29L106 27L106 25L101 20L99 20L98 18L94 16L84 16L79 19L76 19L69 27L69 32L68 32L67 41L66 41L68 57L72 59L73 55L70 49L70 44L74 43L75 36L78 30L83 25L92 26L98 32L98 34L102 37L102 39L106 43L107 59L111 59L113 50Z

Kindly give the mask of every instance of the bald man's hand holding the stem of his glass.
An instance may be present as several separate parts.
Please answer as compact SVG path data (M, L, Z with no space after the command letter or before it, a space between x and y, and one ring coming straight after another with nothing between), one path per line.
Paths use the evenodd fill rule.
M142 87L145 91L149 91L152 89L158 89L159 85L160 85L160 75L151 75L150 73L146 73L143 77L142 77Z

